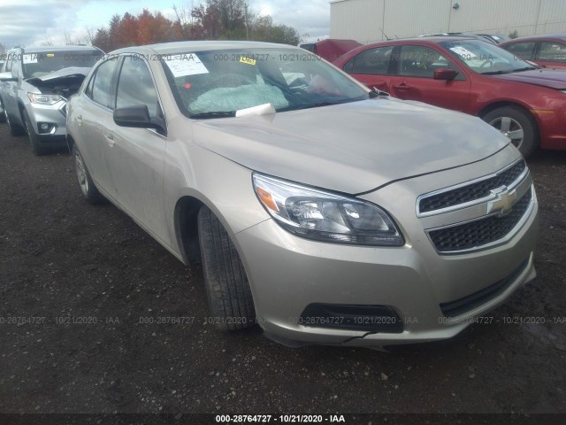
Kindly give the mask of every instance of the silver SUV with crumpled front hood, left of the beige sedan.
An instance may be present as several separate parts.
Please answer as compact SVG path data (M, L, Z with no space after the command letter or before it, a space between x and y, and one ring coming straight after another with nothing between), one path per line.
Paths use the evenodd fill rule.
M0 102L10 134L27 133L36 155L65 146L66 100L102 56L102 50L86 46L8 51L0 73Z

